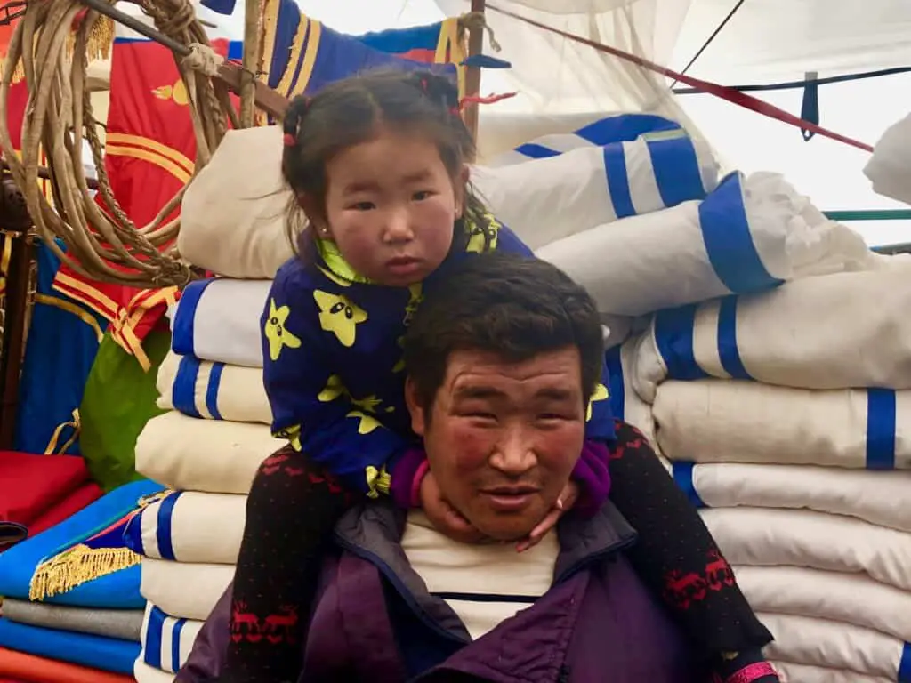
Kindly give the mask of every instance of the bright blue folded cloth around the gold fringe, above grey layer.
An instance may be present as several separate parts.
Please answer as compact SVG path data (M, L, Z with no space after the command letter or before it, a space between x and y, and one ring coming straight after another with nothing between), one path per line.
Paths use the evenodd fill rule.
M135 510L141 498L158 494L161 484L144 479L115 489L46 532L13 546L0 555L0 596L29 599L29 587L36 567L67 548L122 520ZM126 545L123 545L126 549ZM139 595L139 566L87 578L56 596L42 600L55 605L142 609L146 601Z

